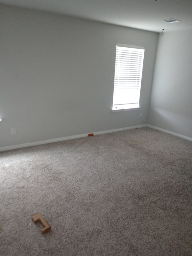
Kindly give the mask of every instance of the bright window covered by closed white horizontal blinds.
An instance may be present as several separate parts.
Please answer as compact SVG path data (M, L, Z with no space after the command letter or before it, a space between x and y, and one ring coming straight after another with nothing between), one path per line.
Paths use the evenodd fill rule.
M117 45L112 110L139 107L144 51L140 46Z

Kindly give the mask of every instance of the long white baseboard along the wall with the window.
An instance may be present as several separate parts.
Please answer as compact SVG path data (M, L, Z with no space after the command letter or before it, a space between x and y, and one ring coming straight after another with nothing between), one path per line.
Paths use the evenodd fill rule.
M120 131L131 130L131 129L135 129L135 128L142 128L142 127L147 127L147 124L130 126L130 127L125 127L125 128L118 128L118 129L113 129L113 130L106 130L106 131L95 132L95 133L91 132L91 133L94 133L94 135L99 135L99 134L114 133L114 132L120 132ZM88 133L85 133L85 134L80 134L80 135L73 135L73 136L67 136L67 137L62 137L62 138L47 139L47 140L42 140L42 141L37 141L37 142L29 142L29 143L23 143L23 144L18 144L18 145L13 145L13 146L1 147L0 152L12 150L12 149L26 148L26 147L31 147L31 146L48 144L48 143L52 143L52 142L59 142L59 141L64 141L64 140L69 140L69 139L78 139L78 138L83 138L83 137L87 137L87 136L88 136Z

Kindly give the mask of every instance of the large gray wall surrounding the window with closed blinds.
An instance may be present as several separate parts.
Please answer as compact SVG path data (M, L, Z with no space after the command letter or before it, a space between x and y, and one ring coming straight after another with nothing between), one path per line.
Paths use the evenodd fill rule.
M0 147L147 123L157 33L0 8ZM117 43L146 49L140 110L111 111Z

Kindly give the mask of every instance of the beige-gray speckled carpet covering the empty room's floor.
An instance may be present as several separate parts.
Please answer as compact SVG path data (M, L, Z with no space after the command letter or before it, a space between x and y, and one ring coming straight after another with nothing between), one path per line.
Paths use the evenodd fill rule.
M0 255L191 256L191 181L192 142L150 128L1 152Z

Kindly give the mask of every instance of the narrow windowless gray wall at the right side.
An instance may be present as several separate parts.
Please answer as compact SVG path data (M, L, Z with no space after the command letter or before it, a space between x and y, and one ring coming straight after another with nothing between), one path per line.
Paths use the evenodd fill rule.
M159 36L149 124L192 138L192 30Z

